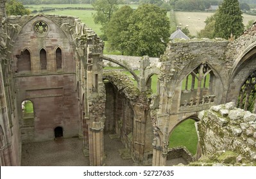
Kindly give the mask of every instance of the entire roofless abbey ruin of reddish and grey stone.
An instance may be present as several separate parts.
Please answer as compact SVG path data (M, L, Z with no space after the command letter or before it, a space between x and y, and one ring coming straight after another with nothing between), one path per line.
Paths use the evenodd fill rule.
M256 24L233 42L170 41L158 65L140 58L137 75L105 56L103 41L80 19L7 17L5 3L0 1L1 166L21 165L23 143L55 137L80 137L90 165L103 166L103 134L109 131L134 165L165 166L169 136L189 118L198 121L197 159L225 150L238 153L238 162L255 164L256 104L249 101L255 100ZM103 60L131 72L137 87L126 75L103 70ZM158 88L151 95L154 74ZM22 111L28 100L31 116Z

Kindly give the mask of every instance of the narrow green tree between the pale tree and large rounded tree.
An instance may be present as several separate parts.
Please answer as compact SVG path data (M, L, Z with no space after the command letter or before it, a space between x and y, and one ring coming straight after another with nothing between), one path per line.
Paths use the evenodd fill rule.
M106 29L108 43L112 50L124 53L126 46L126 34L128 31L128 19L132 15L133 10L130 6L122 6L114 13Z

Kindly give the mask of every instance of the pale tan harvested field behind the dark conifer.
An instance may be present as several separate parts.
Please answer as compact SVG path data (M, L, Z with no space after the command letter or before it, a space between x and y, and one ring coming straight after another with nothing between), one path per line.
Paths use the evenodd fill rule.
M214 13L210 12L175 12L176 23L182 24L182 28L188 26L191 35L196 36L197 33L205 27L204 20ZM256 16L243 14L244 26L248 24L249 20L255 20Z

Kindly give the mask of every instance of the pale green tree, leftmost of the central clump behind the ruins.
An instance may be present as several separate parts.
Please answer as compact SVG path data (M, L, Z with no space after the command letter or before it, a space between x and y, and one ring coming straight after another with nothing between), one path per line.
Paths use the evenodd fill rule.
M96 13L92 14L94 22L101 24L101 31L105 35L105 29L115 11L118 10L118 0L96 0L92 3Z

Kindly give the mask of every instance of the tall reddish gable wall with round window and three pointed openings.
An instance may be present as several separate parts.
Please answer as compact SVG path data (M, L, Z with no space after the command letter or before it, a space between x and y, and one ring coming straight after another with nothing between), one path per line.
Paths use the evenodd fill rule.
M26 20L28 20L26 22ZM64 18L58 18L64 23ZM22 139L26 141L44 141L55 137L54 128L62 127L64 137L78 136L78 108L76 100L76 75L74 50L69 37L55 21L44 15L10 17L9 28L17 30L13 35L12 59L17 86L17 110L21 118L21 102L30 99L33 102L34 128L22 131ZM34 31L36 22L47 24L47 32L43 35ZM73 20L67 19L67 22ZM70 24L72 25L72 24ZM56 69L56 49L62 51L62 68ZM17 56L25 49L30 51L31 72L21 72L17 68ZM46 70L41 70L40 50L46 51ZM22 119L20 119L22 120ZM35 131L31 134L31 130ZM34 135L34 136L33 136Z

